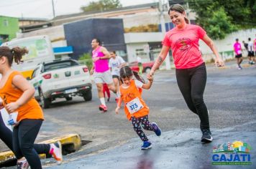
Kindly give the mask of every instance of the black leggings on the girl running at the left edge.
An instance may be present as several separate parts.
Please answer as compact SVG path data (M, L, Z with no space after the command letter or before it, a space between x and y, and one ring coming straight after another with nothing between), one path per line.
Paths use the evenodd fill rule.
M34 145L41 125L42 120L25 119L19 122L17 127L14 127L12 133L15 155L17 155L18 159L24 156L30 168L42 168L40 157L37 153L49 153L50 150L50 145Z

